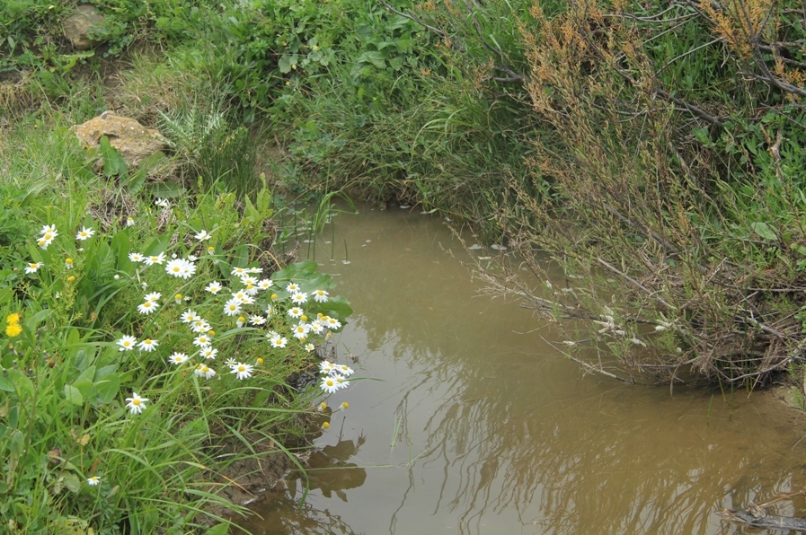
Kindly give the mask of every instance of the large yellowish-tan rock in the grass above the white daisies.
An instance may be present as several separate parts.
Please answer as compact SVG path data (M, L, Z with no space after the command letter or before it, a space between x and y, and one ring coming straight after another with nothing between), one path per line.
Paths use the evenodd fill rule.
M168 143L158 130L146 128L133 118L121 117L111 111L73 127L78 138L88 147L97 147L107 136L128 167L135 167L153 153L164 151Z

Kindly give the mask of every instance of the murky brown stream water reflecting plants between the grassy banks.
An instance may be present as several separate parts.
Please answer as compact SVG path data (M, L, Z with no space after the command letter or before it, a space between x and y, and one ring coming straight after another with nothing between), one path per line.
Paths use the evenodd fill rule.
M806 486L806 417L773 396L586 375L518 303L475 295L441 219L361 206L335 225L316 259L356 310L339 360L376 381L332 396L350 408L305 503L292 474L254 533L759 533L716 512Z

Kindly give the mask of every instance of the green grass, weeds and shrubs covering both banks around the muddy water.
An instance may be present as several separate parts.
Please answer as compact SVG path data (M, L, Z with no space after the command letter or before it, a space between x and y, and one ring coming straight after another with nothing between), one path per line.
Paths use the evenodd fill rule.
M202 477L217 437L249 450L244 429L288 425L305 399L283 379L304 352L255 368L267 405L228 373L202 390L114 344L179 337L173 294L207 306L225 266L279 269L271 210L287 197L417 203L503 237L538 280L551 259L564 285L535 289L505 259L480 272L568 329L590 369L748 387L802 375L802 3L92 0L106 19L85 51L62 31L75 4L0 6L0 310L22 313L0 356L0 492L20 530L185 530L217 500ZM70 127L104 110L159 128L168 150L137 166L87 152ZM59 236L41 250L46 224ZM97 234L79 251L82 227ZM196 251L186 287L128 259L187 258L200 230L214 254ZM137 280L163 294L153 316L133 276L155 277ZM217 337L256 359L242 329ZM584 361L591 347L607 369ZM142 414L126 414L132 391Z

